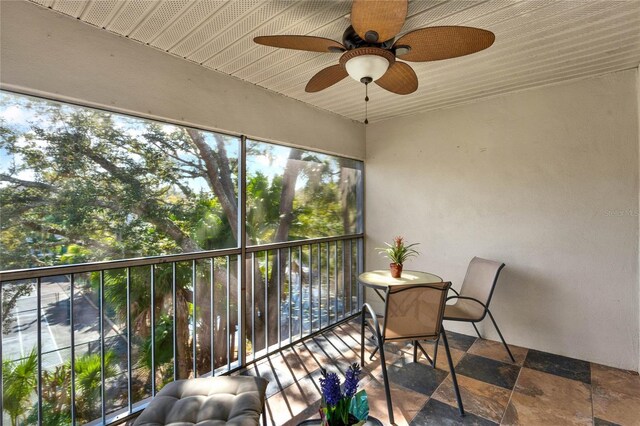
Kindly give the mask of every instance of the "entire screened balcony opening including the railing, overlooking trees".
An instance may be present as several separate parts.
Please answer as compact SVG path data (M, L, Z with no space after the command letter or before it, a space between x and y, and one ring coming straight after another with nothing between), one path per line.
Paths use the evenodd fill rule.
M16 395L3 421L109 424L172 380L228 373L357 314L362 173L0 92L0 353ZM67 266L35 269L51 265Z

